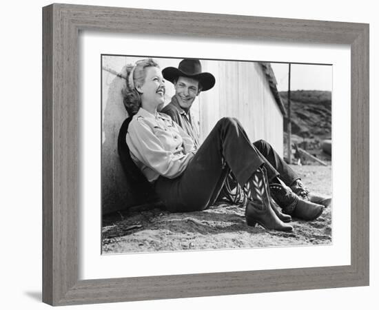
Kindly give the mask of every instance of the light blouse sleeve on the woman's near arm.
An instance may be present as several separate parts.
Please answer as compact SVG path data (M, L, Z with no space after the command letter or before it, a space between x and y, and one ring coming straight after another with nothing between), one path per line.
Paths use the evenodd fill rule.
M166 178L180 176L194 156L193 153L173 154L166 151L149 125L143 122L143 118L130 123L126 138L130 152L141 163Z

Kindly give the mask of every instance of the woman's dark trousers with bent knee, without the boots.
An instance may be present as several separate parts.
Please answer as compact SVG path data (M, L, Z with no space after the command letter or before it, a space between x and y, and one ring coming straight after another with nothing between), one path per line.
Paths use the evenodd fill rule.
M196 152L185 172L160 176L155 190L172 212L198 211L212 205L232 172L241 186L265 164L236 118L222 118Z

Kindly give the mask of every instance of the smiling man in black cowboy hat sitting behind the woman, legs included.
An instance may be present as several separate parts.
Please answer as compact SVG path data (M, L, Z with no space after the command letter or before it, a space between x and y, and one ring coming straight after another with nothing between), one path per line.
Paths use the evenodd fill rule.
M162 74L167 81L174 84L175 94L172 97L172 101L161 112L170 115L192 137L195 147L198 148L200 138L190 110L196 96L200 92L205 92L214 87L216 79L209 72L202 72L201 62L198 59L183 59L178 68L167 67L163 69ZM314 219L315 216L318 217L321 214L319 211L307 212L304 210L320 210L315 204L324 205L325 207L330 205L331 198L309 192L301 183L298 175L280 158L269 143L260 140L254 142L253 145L258 149L259 154L266 163L272 196L285 212L304 219ZM224 187L223 196L228 196L228 192L231 192L236 187L234 182L231 182L231 179L233 179L233 176L228 178L229 182L227 183L229 184ZM229 190L225 190L228 186ZM288 203L287 196L292 197L292 203ZM296 204L300 204L303 207L298 207L298 210L294 212ZM300 209L303 209L304 212L300 211Z

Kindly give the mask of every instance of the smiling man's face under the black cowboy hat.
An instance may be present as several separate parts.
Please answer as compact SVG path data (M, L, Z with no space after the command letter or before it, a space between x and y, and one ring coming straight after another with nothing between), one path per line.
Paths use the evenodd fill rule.
M174 86L175 96L179 105L183 109L189 110L196 96L200 93L198 81L185 76L179 76Z

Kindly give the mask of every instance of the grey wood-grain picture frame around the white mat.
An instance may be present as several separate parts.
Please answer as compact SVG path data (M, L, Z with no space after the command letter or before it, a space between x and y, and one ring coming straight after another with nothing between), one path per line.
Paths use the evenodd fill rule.
M78 280L79 30L350 45L351 265ZM369 25L65 4L43 8L43 302L87 304L362 285L369 285Z

